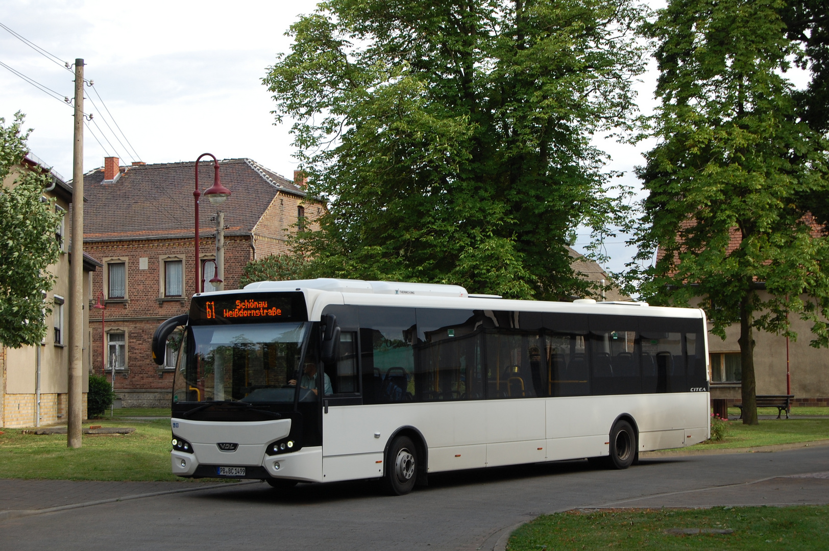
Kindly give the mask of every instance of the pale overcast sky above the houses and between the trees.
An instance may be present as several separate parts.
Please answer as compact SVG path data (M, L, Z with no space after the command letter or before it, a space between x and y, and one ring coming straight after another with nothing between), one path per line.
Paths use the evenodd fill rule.
M132 145L124 138L117 142L109 133L104 118L113 123L104 116L95 92L87 89L97 108L87 100L85 111L94 114L97 126L90 124L103 147L86 133L85 172L101 167L106 155L128 164L138 159L194 161L211 152L220 159L249 157L290 178L296 162L289 124L274 125L274 102L261 79L276 54L288 51L284 32L298 14L313 12L315 5L314 0L2 0L0 23L61 60L85 60L85 78L95 81ZM73 94L70 71L2 28L0 62L61 96ZM653 106L655 79L651 70L637 87L645 112ZM0 117L9 123L18 109L27 115L27 128L34 128L32 152L70 179L72 109L0 67ZM638 188L633 167L642 164L640 152L652 143L622 146L600 137L596 143L613 157L608 169L626 172L621 181ZM191 193L189 186L182 182L182 192ZM587 234L579 234L576 249L587 241ZM612 270L623 268L633 254L622 241L605 242L612 257L606 266Z

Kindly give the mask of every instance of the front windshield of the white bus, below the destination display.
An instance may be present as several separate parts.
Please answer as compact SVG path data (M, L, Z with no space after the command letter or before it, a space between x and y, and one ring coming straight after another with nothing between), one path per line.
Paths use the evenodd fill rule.
M178 355L173 402L293 403L311 324L189 326Z

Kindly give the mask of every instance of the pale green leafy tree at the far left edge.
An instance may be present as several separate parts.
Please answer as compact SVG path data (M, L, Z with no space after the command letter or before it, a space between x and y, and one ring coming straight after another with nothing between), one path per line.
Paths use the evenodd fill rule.
M12 348L34 345L46 336L46 292L55 284L48 271L56 263L55 239L59 215L54 201L42 201L51 174L22 172L6 185L12 169L26 156L27 133L21 133L23 115L5 126L0 118L0 342Z

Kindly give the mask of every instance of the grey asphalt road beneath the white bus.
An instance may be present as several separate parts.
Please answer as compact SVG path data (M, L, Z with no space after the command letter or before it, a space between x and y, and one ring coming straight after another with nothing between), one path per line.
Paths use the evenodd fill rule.
M463 471L400 497L371 482L287 493L230 484L7 518L0 549L502 549L517 524L572 508L818 503L829 503L826 446L649 459L627 471L583 461Z

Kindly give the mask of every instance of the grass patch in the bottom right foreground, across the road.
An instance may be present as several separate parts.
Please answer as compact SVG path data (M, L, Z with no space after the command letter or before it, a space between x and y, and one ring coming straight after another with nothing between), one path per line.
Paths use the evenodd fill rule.
M671 534L671 529L733 529ZM826 549L829 506L694 510L567 511L541 515L512 533L508 551L583 549Z

